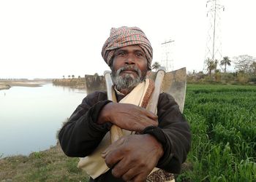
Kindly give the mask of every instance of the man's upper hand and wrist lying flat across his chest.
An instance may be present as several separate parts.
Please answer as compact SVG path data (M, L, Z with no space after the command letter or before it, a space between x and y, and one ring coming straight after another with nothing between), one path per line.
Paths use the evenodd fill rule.
M145 108L129 103L108 103L99 114L97 123L111 122L124 130L142 132L146 127L157 126L157 115Z

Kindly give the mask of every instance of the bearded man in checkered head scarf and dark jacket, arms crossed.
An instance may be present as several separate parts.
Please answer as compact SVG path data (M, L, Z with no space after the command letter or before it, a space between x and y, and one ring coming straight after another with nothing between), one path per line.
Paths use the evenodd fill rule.
M145 109L154 90L146 79L152 56L140 28L112 28L102 57L112 71L118 103L108 100L106 92L91 93L59 132L67 156L85 157L78 166L90 181L145 181L154 167L179 173L187 158L189 125L172 96L159 95L157 115ZM113 124L128 134L110 144Z

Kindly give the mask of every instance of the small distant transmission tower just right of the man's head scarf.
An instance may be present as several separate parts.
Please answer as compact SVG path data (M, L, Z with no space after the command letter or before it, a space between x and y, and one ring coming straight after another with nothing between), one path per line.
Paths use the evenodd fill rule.
M161 65L165 66L166 71L173 70L173 54L171 52L171 43L173 40L165 41L161 44L162 47L162 60Z

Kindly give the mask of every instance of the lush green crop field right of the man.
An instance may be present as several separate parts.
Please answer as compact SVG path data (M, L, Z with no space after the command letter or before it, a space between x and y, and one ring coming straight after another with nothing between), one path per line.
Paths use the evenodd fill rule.
M189 84L190 167L178 181L256 181L256 87Z

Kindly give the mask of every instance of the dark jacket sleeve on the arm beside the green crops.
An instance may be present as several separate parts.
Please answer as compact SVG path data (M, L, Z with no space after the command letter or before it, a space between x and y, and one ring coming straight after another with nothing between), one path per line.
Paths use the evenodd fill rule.
M167 93L159 95L157 115L159 126L146 127L143 133L154 135L162 143L164 155L157 167L170 173L180 173L181 164L187 159L191 145L189 124L176 101Z

